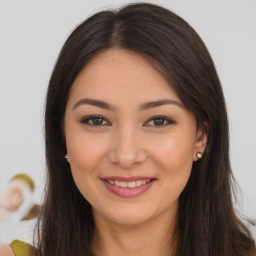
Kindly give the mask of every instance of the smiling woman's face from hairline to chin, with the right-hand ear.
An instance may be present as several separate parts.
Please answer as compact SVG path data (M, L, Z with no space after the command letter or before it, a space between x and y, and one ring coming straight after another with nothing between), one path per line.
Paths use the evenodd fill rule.
M129 225L176 212L206 145L166 80L141 55L115 48L75 79L65 136L74 181L94 217Z

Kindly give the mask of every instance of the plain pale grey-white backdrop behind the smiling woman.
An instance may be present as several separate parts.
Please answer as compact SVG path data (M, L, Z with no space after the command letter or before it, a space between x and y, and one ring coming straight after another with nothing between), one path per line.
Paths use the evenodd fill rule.
M148 2L180 15L207 45L226 96L232 167L244 196L241 210L256 218L256 1ZM78 23L124 3L0 0L0 188L25 172L35 180L40 202L44 97L56 57Z

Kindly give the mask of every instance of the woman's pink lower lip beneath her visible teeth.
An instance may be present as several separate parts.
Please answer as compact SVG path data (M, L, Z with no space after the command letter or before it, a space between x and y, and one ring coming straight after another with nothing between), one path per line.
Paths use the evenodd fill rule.
M151 180L149 183L141 185L136 188L121 188L113 184L110 184L105 180L102 180L102 181L104 185L107 187L107 189L113 194L117 196L125 197L125 198L132 198L132 197L139 196L140 194L149 190L156 180Z

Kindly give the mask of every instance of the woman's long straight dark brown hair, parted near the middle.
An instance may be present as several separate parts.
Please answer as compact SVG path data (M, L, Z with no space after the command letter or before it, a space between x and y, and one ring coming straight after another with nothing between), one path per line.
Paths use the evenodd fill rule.
M208 144L180 195L176 256L243 256L254 250L232 203L225 100L214 63L200 37L179 16L157 5L130 4L81 23L65 42L46 98L47 182L34 255L93 255L90 204L65 161L63 116L72 83L99 51L119 47L153 59L187 109L204 127Z

